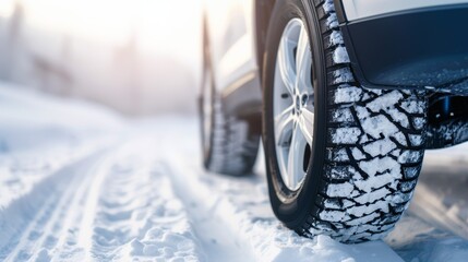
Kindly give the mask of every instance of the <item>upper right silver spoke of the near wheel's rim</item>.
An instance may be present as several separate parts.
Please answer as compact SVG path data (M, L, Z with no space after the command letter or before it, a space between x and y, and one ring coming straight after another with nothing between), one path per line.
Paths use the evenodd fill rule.
M298 51L296 57L297 82L296 88L299 93L312 90L312 53L310 51L310 44L305 27L301 26L299 35Z

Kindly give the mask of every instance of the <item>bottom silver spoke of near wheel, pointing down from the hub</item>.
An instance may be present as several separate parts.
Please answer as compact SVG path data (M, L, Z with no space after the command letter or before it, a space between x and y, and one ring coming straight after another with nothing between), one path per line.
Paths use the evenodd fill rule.
M295 187L302 180L305 172L303 170L303 160L305 152L305 138L300 131L299 126L295 127L292 132L291 146L288 156L288 181L290 187Z

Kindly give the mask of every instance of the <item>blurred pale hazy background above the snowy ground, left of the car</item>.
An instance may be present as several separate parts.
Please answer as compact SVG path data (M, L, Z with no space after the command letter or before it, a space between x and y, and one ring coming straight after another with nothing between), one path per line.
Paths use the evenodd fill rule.
M0 0L0 81L128 116L194 114L201 0Z

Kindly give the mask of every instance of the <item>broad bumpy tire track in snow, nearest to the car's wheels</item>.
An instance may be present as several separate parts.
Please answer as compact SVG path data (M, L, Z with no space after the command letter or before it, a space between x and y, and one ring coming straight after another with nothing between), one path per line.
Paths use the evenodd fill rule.
M98 190L91 252L96 261L203 260L184 206L170 180L134 141L116 153Z

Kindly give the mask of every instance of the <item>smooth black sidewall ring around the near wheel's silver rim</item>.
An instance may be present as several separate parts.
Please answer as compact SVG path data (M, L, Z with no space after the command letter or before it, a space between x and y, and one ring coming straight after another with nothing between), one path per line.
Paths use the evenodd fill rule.
M304 23L311 44L314 86L314 140L311 148L311 160L302 186L290 191L280 175L276 155L273 116L273 94L276 56L284 28L292 19ZM315 9L307 0L277 1L269 22L266 53L263 72L263 143L265 150L266 171L269 199L275 215L290 228L298 228L313 212L314 202L320 192L324 157L326 152L326 69L322 34L319 27Z

